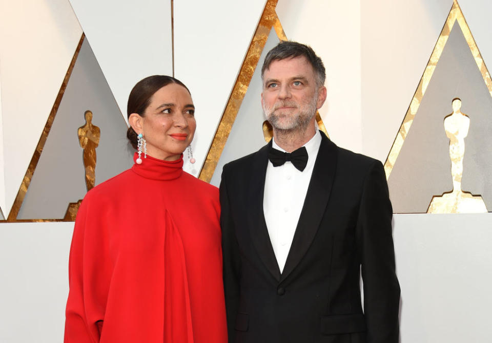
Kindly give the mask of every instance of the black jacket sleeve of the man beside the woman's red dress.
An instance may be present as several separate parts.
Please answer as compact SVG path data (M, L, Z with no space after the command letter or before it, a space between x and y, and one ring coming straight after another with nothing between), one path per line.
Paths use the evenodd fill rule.
M220 182L220 226L222 229L223 280L226 296L227 329L229 341L233 342L235 339L234 326L236 314L239 307L241 262L227 189L226 169L227 165L224 166L222 180Z

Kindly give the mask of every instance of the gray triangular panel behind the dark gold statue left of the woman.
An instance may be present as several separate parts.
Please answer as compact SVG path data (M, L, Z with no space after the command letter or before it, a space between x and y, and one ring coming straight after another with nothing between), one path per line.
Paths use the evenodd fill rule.
M97 185L128 169L134 151L126 138L126 122L85 39L17 219L64 218L68 204L84 198L83 149L77 129L85 124L87 110L101 132Z

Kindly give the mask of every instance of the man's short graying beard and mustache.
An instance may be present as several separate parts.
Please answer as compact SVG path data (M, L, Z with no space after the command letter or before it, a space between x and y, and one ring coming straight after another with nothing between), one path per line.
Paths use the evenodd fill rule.
M279 100L271 107L263 103L263 113L275 130L303 131L316 115L317 99L318 94L316 93L311 100L301 103L291 100ZM275 113L282 107L293 107L297 111L284 115Z

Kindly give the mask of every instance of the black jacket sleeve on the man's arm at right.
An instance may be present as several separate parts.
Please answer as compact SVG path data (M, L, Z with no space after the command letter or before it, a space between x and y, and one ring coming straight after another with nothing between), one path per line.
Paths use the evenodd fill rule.
M400 286L395 272L393 209L384 168L365 176L357 224L368 343L398 343Z

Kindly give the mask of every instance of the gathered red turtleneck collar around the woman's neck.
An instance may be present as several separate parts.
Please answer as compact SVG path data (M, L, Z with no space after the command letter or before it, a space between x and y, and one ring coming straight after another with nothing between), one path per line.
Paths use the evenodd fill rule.
M133 155L133 162L138 158L138 154ZM132 170L146 179L152 180L174 180L181 176L183 172L183 155L176 161L164 161L153 158L147 155L141 157L142 164L136 162L132 166Z

